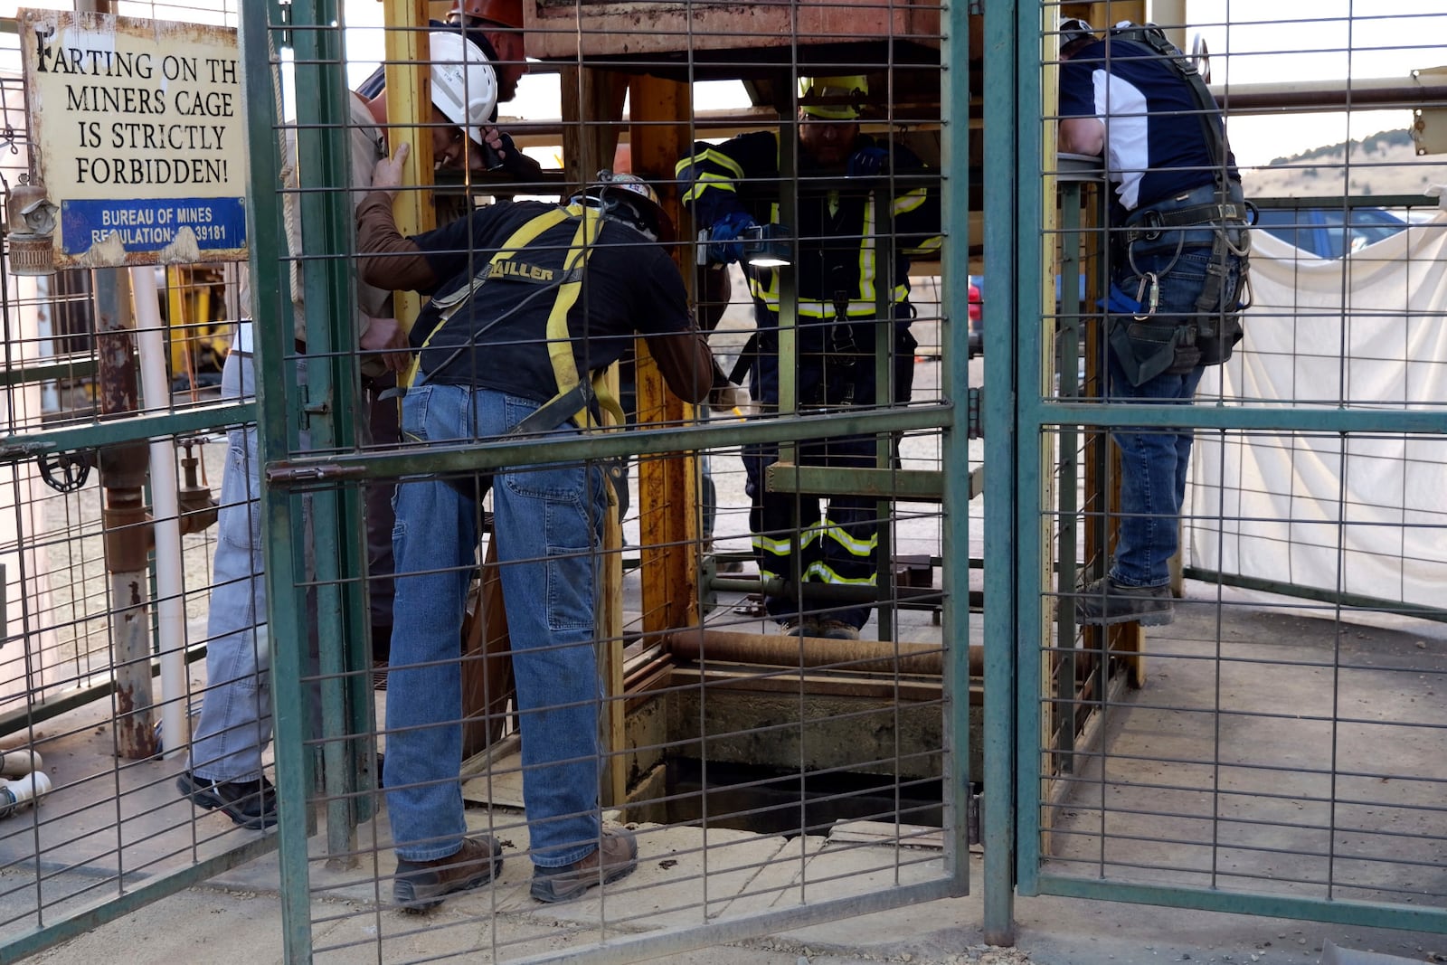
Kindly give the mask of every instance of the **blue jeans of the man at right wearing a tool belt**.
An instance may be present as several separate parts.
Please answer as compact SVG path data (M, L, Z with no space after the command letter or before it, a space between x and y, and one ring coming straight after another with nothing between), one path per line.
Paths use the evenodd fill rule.
M1142 275L1160 279L1158 315L1191 315L1205 281L1210 249L1174 250L1136 258ZM1116 279L1127 292L1139 286L1129 271ZM1234 273L1227 291L1234 289ZM1110 401L1155 405L1189 405L1205 372L1197 366L1182 375L1162 373L1132 385L1116 353L1110 353ZM1124 427L1114 433L1120 447L1120 531L1110 579L1123 586L1165 586L1171 582L1166 563L1176 554L1181 506L1191 460L1191 430Z

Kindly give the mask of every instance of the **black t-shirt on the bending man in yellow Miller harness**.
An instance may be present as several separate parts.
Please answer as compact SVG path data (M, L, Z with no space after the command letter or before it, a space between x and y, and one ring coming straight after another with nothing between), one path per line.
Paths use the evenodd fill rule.
M556 205L517 201L479 208L436 231L415 236L443 281L412 328L428 382L489 388L546 402L557 392L547 323L569 276L564 259L579 220L564 218L489 271L486 281L438 326L438 302L457 292L524 224ZM573 278L577 278L574 273ZM567 311L577 372L616 362L635 333L696 339L683 278L663 247L618 221L603 221Z

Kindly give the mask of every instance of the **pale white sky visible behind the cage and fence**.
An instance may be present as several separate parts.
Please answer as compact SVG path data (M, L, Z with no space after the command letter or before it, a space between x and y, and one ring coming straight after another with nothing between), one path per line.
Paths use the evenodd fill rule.
M126 3L132 16L203 19L201 10L232 12L240 0L178 3ZM343 0L349 27L347 56L352 81L372 72L382 56L383 4L378 0ZM0 16L14 16L16 0L0 0ZM69 9L68 0L26 0L23 6ZM218 14L220 16L220 14ZM1200 35L1211 52L1211 81L1255 85L1283 81L1334 81L1347 78L1398 78L1411 71L1447 67L1447 0L1188 0L1188 45ZM1095 25L1104 26L1104 25ZM4 38L3 43L14 41ZM13 58L12 58L13 59ZM3 64L10 67L9 62ZM16 65L17 67L17 65ZM699 109L747 104L735 81L700 84ZM522 80L518 97L502 107L508 116L559 117L557 77L535 74ZM1408 110L1343 113L1278 113L1265 117L1236 116L1230 122L1231 146L1243 165L1263 165L1288 156L1365 137L1379 130L1401 130L1412 123Z

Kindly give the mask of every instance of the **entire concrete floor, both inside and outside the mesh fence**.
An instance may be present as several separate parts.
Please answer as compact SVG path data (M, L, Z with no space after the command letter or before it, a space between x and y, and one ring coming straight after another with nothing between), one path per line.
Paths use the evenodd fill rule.
M980 362L971 366L971 376ZM929 388L938 363L923 363ZM978 447L978 443L972 443ZM978 454L978 453L977 453ZM928 440L906 450L928 466ZM716 460L725 508L721 548L744 547L747 521L738 460ZM637 503L635 503L637 505ZM971 505L972 556L981 501ZM920 518L899 553L932 545ZM637 544L638 534L631 534ZM912 545L915 541L917 545ZM925 548L923 551L928 551ZM1331 613L1279 600L1192 587L1195 602L1152 632L1147 686L1114 690L1097 707L1100 744L1077 755L1055 787L1056 833L1045 839L1052 874L1255 893L1447 904L1447 786L1438 696L1447 634L1435 625ZM930 637L933 634L933 637ZM915 615L901 639L938 639ZM971 639L981 639L978 622ZM988 641L985 641L988 644ZM201 668L192 668L200 686ZM46 723L41 749L56 793L41 809L0 822L0 943L35 924L155 881L197 858L256 841L218 815L197 815L174 790L179 761L116 767L107 703ZM978 735L972 735L978 741ZM1084 749L1084 748L1082 748ZM527 825L515 809L473 809L518 852ZM314 838L320 848L321 838ZM561 955L609 935L627 939L703 920L744 919L800 900L871 896L896 884L939 880L928 846L846 843L842 836L784 839L712 828L641 829L631 878L567 906L527 896L528 867L515 855L491 887L449 900L425 917L386 909L391 848L385 822L360 829L355 868L310 868L315 961L508 961ZM922 842L912 842L919 845ZM705 849L706 846L706 849ZM41 854L36 864L33 855ZM41 875L38 880L36 868ZM972 896L765 938L666 961L742 962L1317 962L1327 940L1406 961L1447 961L1435 935L1143 907L1058 897L1016 900L1016 951L983 945L983 868L971 859ZM282 961L275 855L226 871L33 956L51 965ZM802 883L807 883L803 887Z

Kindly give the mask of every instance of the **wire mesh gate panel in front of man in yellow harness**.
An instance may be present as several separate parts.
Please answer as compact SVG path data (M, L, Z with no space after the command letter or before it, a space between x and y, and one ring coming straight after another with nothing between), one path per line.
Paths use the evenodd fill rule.
M961 891L941 9L446 7L243 13L288 953Z

